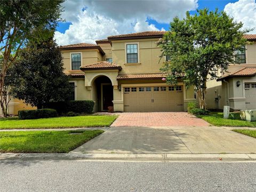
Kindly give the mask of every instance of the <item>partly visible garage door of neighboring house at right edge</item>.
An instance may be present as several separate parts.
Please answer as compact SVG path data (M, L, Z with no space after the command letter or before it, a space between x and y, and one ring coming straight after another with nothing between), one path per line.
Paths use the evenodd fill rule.
M245 107L256 109L256 83L245 83Z

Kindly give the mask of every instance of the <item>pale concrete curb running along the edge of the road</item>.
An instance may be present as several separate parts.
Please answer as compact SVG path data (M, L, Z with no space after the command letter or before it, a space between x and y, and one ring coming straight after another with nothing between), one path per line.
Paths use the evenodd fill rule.
M0 160L121 160L121 161L250 161L256 162L256 154L142 154L142 153L126 153L126 154L107 154L107 153L67 153L67 154L13 154L2 153Z

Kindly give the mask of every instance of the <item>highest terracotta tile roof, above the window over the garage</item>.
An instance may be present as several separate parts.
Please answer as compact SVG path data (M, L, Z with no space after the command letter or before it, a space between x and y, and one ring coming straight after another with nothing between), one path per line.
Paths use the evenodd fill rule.
M166 31L143 31L139 33L113 35L109 36L108 39L133 39L133 38L161 38Z

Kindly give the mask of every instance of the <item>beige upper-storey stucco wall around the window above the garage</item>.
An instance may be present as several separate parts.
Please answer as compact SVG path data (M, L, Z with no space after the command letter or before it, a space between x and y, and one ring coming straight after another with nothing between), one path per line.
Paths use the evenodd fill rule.
M159 73L163 59L159 62L161 49L157 47L158 39L133 39L112 41L113 62L122 66L121 74ZM138 63L131 65L125 61L125 43L138 43Z

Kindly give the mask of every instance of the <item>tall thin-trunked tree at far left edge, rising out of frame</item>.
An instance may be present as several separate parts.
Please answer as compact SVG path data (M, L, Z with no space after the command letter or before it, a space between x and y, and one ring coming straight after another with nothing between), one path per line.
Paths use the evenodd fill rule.
M63 1L0 1L0 106L3 111L6 111L4 81L7 69L28 41L40 41L53 35L52 31L61 20Z

